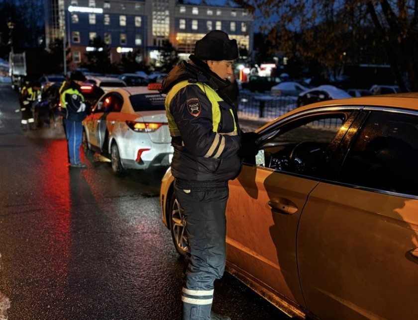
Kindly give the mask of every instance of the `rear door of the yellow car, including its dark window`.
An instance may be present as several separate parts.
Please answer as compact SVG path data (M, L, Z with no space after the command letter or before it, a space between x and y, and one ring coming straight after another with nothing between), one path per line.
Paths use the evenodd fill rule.
M362 113L338 175L302 212L303 295L320 319L418 319L418 114Z

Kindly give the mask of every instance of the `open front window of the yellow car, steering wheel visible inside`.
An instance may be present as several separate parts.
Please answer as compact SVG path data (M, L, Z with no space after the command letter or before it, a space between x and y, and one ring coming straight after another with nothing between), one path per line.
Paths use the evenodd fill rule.
M348 130L351 111L302 117L280 126L256 156L256 165L313 177L322 176L325 161ZM271 136L271 137L269 137Z

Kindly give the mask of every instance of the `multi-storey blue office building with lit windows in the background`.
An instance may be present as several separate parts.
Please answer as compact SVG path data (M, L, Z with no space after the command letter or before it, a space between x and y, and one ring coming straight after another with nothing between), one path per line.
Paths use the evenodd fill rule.
M223 30L250 51L254 19L229 0L45 0L46 45L56 39L68 43L69 70L97 50L91 41L100 37L110 48L110 62L117 63L128 52L136 60L153 64L158 48L169 40L180 58L187 58L195 42L210 30ZM213 0L212 0L213 1Z

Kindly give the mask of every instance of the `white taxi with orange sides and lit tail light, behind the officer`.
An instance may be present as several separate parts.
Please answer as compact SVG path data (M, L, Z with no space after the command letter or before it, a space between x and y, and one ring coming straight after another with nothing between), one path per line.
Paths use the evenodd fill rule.
M109 158L116 175L171 162L164 97L157 89L137 86L108 91L83 120L83 127L84 151Z

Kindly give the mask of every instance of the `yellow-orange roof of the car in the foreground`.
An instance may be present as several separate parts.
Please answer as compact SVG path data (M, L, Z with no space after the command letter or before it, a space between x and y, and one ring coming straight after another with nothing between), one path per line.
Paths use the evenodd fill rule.
M391 93L382 95L367 95L362 97L350 97L344 99L334 99L315 102L307 104L302 107L293 109L286 114L276 118L272 122L281 121L284 118L292 116L295 113L304 111L314 111L321 107L391 107L399 109L408 109L412 111L418 111L418 92L404 92L404 93ZM272 123L270 122L270 123ZM266 125L267 126L267 125ZM262 128L264 128L263 126ZM260 131L258 129L257 131Z

